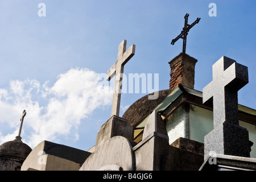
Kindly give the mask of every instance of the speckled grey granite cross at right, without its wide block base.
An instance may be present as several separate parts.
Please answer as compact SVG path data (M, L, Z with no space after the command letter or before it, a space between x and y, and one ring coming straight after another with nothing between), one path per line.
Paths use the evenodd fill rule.
M248 83L248 70L228 57L221 57L212 66L213 81L203 89L203 103L213 98L213 124L238 125L237 92Z

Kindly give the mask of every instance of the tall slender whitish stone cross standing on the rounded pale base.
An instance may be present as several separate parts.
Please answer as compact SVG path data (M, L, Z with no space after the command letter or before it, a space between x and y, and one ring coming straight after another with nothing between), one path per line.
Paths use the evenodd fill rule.
M126 51L126 40L123 40L118 47L117 61L109 69L107 73L107 80L110 81L115 75L115 85L113 93L112 111L111 116L119 116L120 101L121 101L121 90L122 90L122 76L124 65L133 57L135 53L135 45L132 44Z

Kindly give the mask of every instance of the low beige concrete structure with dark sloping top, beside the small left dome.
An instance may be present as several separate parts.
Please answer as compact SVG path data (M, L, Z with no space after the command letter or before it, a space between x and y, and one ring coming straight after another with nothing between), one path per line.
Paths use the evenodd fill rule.
M22 171L77 171L90 152L43 141L24 160Z

